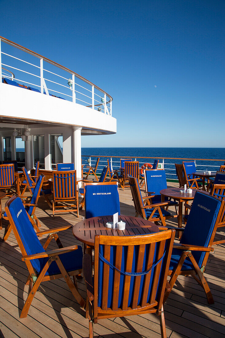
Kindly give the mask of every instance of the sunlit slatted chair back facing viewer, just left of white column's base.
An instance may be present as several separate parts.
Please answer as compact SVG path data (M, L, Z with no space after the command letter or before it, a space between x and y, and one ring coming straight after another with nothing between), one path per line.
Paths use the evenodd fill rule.
M76 170L52 171L53 198L74 199L77 197Z

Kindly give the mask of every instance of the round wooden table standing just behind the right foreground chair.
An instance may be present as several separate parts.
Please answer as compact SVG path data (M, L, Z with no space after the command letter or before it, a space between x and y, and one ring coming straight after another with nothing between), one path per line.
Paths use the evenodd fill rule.
M188 194L187 192L185 193L180 193L181 188L167 188L160 190L161 194L161 200L162 202L165 202L165 196L166 197L171 197L175 200L178 201L178 227L182 227L182 208L183 208L183 202L188 202L194 199L195 193L197 189L192 189L192 194Z

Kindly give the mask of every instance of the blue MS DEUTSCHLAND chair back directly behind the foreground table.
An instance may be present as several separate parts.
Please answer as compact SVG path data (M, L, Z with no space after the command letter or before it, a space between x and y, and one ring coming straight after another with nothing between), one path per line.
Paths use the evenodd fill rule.
M85 183L85 217L120 215L120 199L117 182Z

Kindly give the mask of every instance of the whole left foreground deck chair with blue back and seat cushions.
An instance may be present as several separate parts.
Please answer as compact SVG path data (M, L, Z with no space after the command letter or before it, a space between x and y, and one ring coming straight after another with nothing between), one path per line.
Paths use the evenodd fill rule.
M57 232L66 230L71 226L54 228L36 234L19 197L13 196L5 203L5 212L12 227L17 243L22 253L22 261L25 262L29 271L26 285L29 284L28 297L23 306L20 318L27 317L31 302L41 282L64 278L75 299L81 307L85 301L81 297L75 275L82 272L82 248L72 245L66 248L58 238ZM37 235L50 234L44 246ZM51 239L55 239L59 249L45 251ZM71 281L73 276L73 281Z

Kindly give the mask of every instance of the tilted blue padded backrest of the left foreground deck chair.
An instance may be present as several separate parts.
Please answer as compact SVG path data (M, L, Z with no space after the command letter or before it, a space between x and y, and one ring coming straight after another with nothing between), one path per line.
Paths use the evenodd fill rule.
M20 197L12 196L5 203L5 212L22 255L26 256L44 252L45 250L34 231ZM34 269L39 273L43 263L44 258L27 261L26 265L29 273L35 274Z

